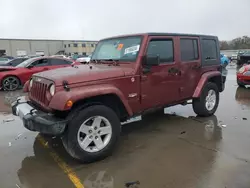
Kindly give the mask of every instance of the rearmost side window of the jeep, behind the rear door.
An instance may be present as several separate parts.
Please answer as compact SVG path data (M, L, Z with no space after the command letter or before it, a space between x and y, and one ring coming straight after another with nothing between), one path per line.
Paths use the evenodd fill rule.
M205 59L217 59L217 47L216 41L212 39L203 39L202 40L203 46L203 54Z

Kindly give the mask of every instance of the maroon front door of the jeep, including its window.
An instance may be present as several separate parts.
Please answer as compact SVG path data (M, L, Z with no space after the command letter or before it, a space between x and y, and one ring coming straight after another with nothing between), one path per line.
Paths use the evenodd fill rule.
M179 63L175 36L149 37L146 56L159 56L160 64L142 70L142 108L154 108L174 103L179 97Z

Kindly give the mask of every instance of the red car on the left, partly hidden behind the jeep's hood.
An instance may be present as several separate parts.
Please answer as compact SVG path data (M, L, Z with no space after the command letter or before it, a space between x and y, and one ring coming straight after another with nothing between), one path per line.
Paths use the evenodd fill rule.
M34 73L68 67L74 64L80 63L70 59L43 56L30 58L16 67L0 66L0 87L6 91L14 91L24 85Z

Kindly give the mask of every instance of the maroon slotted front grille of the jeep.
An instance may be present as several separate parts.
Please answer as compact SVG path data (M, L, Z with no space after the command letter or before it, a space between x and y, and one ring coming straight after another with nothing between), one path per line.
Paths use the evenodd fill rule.
M46 83L37 82L34 80L32 88L30 90L31 99L42 106L47 106L49 102L46 98L46 91L48 89L48 86L49 85Z

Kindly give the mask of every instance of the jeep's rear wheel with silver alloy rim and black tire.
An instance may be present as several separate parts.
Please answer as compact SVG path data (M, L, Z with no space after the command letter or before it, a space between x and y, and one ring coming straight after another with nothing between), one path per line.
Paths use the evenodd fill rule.
M208 82L203 88L200 98L193 99L194 112L208 117L215 113L219 104L219 90L215 83Z

